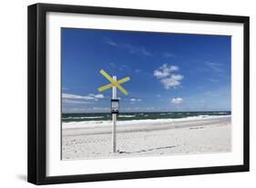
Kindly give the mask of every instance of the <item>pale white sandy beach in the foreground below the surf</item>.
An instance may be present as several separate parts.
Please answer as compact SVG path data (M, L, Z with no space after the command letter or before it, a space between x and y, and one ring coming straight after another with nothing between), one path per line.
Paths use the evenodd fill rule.
M230 116L140 121L139 124L124 121L117 125L118 153L111 152L111 130L111 124L63 124L62 159L231 151Z

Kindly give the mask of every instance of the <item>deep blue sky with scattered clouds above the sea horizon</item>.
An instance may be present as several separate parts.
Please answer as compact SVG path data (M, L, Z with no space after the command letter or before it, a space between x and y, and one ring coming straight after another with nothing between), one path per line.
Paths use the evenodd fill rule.
M109 112L104 69L130 81L121 112L229 111L230 36L62 28L62 112Z

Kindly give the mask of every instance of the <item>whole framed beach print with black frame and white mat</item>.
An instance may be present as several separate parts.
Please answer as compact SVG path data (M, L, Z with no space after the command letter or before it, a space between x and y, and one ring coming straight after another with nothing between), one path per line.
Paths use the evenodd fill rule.
M28 182L249 171L249 17L28 6Z

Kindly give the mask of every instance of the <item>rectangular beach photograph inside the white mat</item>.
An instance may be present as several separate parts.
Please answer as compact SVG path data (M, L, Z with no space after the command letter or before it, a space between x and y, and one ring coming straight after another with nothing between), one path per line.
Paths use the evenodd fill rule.
M230 153L230 35L61 28L61 160Z

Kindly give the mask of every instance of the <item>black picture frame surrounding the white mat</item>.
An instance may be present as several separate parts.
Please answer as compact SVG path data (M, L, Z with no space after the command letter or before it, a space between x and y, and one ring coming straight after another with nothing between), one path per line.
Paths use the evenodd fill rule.
M177 20L199 20L243 24L243 164L215 167L153 170L125 173L97 173L67 176L46 176L46 13L76 13L91 15L122 15ZM248 16L207 15L152 10L123 9L81 5L36 4L28 6L28 137L27 181L35 184L81 183L134 178L192 175L205 173L248 172L250 161L250 67Z

